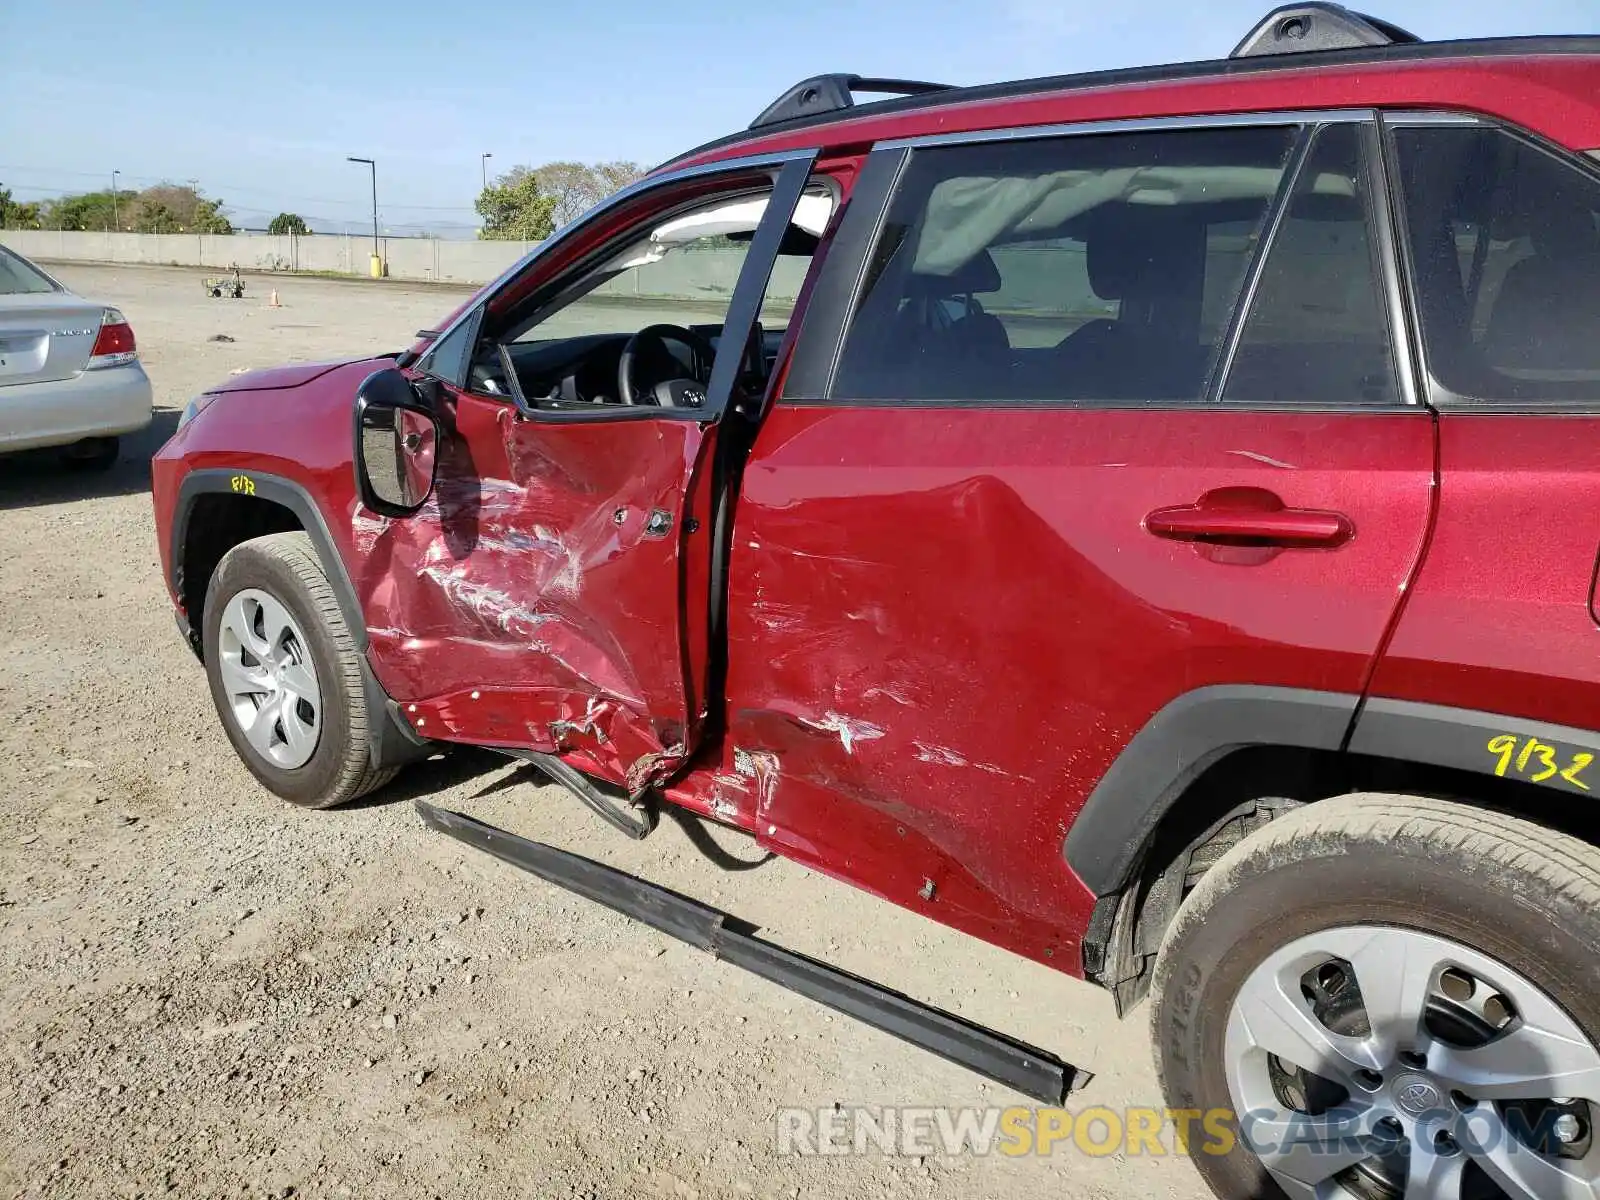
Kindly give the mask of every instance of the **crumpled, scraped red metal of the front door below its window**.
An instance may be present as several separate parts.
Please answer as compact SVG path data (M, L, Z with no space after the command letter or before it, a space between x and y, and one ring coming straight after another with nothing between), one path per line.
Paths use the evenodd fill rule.
M451 483L416 517L354 518L381 565L362 595L373 670L430 736L570 755L638 790L683 758L693 710L662 587L683 539L648 525L678 512L712 440L669 419L541 426L474 395L453 410Z

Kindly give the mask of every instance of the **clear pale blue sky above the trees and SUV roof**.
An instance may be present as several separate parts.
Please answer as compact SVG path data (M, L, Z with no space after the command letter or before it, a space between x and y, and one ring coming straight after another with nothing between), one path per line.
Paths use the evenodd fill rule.
M490 168L656 163L822 70L979 83L1214 58L1270 0L0 0L0 186L198 179L290 210L474 221ZM1597 0L1389 0L1422 37L1600 32Z

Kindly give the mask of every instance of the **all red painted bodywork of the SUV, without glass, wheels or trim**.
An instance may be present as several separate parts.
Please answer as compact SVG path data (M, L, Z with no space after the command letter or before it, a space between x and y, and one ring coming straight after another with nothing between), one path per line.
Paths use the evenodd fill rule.
M882 139L1312 107L1478 112L1582 150L1600 146L1600 59L1042 90L752 134L674 166L821 146L848 192L851 155ZM491 304L650 203L616 206ZM803 312L805 293L770 395ZM723 733L696 752L709 539L645 528L656 509L707 523L715 430L525 422L450 395L443 475L477 491L390 522L358 506L350 467L350 400L379 365L234 381L277 390L213 405L160 451L168 579L187 472L293 480L355 584L378 682L421 733L558 752L635 789L667 779L675 803L1061 970L1082 970L1094 907L1062 835L1176 696L1246 682L1594 725L1595 418L771 405L733 525ZM1182 528L1283 510L1314 544Z

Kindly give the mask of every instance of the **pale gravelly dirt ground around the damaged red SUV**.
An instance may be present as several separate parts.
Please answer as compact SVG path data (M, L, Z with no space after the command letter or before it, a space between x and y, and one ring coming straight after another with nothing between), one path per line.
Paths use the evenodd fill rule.
M1176 1158L776 1154L781 1106L1006 1090L427 832L434 795L635 869L997 1024L1158 1104L1139 1018L787 862L627 843L531 768L461 752L360 806L254 786L173 630L147 466L242 366L397 349L459 294L62 267L138 331L162 405L107 477L0 461L0 1195L1157 1197ZM208 341L227 334L232 342ZM750 846L720 840L746 858Z

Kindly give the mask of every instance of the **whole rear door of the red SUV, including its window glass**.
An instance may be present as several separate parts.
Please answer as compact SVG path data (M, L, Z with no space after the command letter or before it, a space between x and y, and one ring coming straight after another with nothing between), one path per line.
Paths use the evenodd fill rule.
M1094 896L1062 842L1160 709L1258 685L1355 710L1426 544L1434 418L1395 384L1371 123L1278 133L914 149L858 210L882 242L846 216L859 330L830 259L805 333L829 341L762 427L734 536L725 792L770 845L1070 968ZM1166 205L1117 190L1146 154ZM923 302L946 293L976 296ZM1157 536L1174 509L1342 533Z

